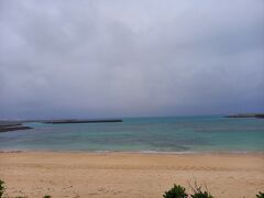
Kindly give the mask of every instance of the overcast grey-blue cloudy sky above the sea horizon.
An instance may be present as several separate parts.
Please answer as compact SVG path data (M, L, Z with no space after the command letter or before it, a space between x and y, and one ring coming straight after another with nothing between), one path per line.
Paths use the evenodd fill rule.
M263 0L0 0L0 119L261 111Z

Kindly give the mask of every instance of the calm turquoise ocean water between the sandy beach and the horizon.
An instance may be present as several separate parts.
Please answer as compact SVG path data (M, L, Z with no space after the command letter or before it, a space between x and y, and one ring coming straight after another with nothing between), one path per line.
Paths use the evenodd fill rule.
M121 123L26 123L0 133L1 151L264 152L264 119L176 117Z

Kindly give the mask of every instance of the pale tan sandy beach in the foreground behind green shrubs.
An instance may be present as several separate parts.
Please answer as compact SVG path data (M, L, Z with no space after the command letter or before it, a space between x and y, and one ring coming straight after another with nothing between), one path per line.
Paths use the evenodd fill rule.
M9 197L155 198L196 180L219 198L253 198L264 154L2 152L0 179Z

